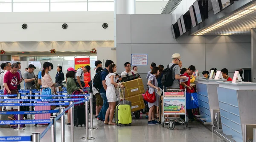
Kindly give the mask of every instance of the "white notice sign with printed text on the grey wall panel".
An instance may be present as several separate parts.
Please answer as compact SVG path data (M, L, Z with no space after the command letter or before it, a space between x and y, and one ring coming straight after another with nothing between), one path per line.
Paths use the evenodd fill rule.
M148 54L131 54L131 65L148 65Z

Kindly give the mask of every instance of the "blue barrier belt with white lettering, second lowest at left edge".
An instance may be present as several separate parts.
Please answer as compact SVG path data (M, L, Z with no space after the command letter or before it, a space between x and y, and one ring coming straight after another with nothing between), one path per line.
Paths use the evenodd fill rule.
M6 120L0 121L0 125L15 125L15 124L40 124L40 123L50 123L50 119L41 119L41 120Z

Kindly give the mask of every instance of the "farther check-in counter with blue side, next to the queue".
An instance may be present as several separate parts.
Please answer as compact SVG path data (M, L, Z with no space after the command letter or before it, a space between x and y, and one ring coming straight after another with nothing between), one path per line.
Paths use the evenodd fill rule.
M217 81L226 81L224 79L208 79L198 78L196 83L198 93L198 104L200 116L198 120L204 125L213 126L213 119L215 116L214 110L219 110L218 95L217 95Z

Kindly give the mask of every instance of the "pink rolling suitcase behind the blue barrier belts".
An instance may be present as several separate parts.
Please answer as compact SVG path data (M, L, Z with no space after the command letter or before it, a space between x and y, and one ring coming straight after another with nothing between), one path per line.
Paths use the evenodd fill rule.
M37 103L48 103L48 102L38 101ZM37 106L35 106L35 111L38 111L38 110L51 110L51 106L50 105L37 105ZM35 120L50 119L50 117L51 117L51 113L35 114ZM48 125L48 124L49 123L39 123L39 124L35 124L35 126Z

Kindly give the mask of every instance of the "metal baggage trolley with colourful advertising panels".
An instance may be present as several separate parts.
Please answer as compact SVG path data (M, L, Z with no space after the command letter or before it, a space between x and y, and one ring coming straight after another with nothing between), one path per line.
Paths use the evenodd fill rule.
M165 87L163 87L165 88ZM173 130L175 122L188 127L188 117L186 116L186 88L185 90L166 89L163 90L162 127L166 125L165 120L169 119L168 128ZM180 117L165 117L165 115L185 115L185 120Z

